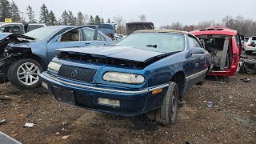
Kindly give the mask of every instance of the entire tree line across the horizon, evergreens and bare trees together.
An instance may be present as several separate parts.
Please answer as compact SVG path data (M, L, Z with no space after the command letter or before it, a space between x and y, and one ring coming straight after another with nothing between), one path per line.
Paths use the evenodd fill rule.
M21 16L22 14L22 16ZM126 19L118 15L110 21L110 18L105 22L104 18L98 15L83 14L81 11L78 14L73 14L70 10L64 10L61 18L56 18L53 10L49 10L45 4L40 7L39 19L35 18L34 10L31 6L26 7L26 13L22 13L18 10L18 6L12 0L0 0L0 22L3 22L5 18L12 18L14 22L24 22L24 14L27 16L26 22L34 23L46 23L52 26L55 25L70 25L70 26L83 26L86 24L98 24L98 23L115 23L117 24L116 30L118 34L126 34ZM146 15L138 15L138 19L135 22L147 22ZM226 16L222 18L221 22L214 20L198 22L196 25L183 25L181 22L172 22L170 25L160 26L159 29L171 29L171 30L185 30L192 31L203 29L209 26L227 26L230 29L238 30L240 34L245 36L256 35L256 22L251 19L243 18L242 16L232 17Z

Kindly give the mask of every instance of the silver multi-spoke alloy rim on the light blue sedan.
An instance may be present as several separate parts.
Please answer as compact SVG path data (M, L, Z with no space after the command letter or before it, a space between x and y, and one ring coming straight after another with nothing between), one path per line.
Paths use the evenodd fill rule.
M38 82L40 70L34 63L26 62L18 67L17 76L19 82L31 86Z

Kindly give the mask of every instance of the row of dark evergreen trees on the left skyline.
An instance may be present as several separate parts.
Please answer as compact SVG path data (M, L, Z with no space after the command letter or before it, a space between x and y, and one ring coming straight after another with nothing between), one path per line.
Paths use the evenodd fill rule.
M104 18L100 18L98 15L93 17L92 15L82 14L81 11L78 14L73 14L70 10L64 10L61 18L57 19L53 10L49 10L45 4L40 7L39 20L35 18L34 10L29 5L26 7L26 13L18 10L18 6L14 1L9 2L8 0L0 0L0 22L3 22L5 18L11 18L13 22L24 22L24 15L26 14L26 22L35 23L46 23L52 26L55 25L72 25L72 26L83 26L85 24L105 23ZM106 23L111 23L110 18L107 19Z

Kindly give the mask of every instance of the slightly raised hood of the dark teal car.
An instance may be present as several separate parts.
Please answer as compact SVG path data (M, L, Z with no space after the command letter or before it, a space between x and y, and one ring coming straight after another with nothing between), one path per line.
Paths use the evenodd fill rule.
M78 54L93 54L106 58L126 59L136 62L146 62L151 58L166 56L166 53L142 50L131 46L90 46L83 48L58 49L58 51Z

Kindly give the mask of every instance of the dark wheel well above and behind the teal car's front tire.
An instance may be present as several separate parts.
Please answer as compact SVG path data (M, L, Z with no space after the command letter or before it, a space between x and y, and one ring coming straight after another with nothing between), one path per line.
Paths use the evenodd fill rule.
M183 94L184 86L186 82L185 74L182 71L178 71L174 74L174 76L170 79L171 82L175 82L178 85L178 92L180 97Z

